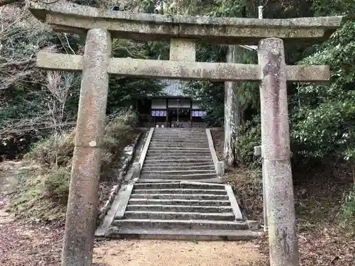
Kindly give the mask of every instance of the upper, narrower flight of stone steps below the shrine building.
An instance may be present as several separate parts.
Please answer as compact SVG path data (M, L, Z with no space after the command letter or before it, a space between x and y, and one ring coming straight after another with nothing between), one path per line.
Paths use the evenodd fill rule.
M216 179L204 128L155 128L140 182L146 179ZM211 181L211 180L210 180Z

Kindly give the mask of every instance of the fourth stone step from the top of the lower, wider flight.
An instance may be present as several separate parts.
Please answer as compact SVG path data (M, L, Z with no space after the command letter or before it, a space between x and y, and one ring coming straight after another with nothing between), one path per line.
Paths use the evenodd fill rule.
M231 206L227 199L136 199L130 198L129 205L184 205L184 206Z

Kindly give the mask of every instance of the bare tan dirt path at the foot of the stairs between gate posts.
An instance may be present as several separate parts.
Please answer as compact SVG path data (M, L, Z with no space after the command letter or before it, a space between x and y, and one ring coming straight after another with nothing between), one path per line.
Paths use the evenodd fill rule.
M94 248L94 262L105 266L267 265L249 242L111 240Z

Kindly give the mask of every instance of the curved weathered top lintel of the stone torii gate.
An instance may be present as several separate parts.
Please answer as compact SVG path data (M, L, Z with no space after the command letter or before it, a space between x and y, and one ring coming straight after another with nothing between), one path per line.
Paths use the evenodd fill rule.
M102 28L110 31L114 38L132 40L185 38L249 45L263 38L320 40L328 38L342 22L342 16L288 19L166 16L108 11L70 3L31 2L28 7L36 18L56 31L85 34L90 28Z

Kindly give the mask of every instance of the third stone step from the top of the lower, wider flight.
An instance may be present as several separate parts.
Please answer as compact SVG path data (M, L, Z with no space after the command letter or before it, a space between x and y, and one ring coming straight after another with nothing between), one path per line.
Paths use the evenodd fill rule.
M131 194L130 199L190 199L190 200L228 200L227 195L216 194Z

